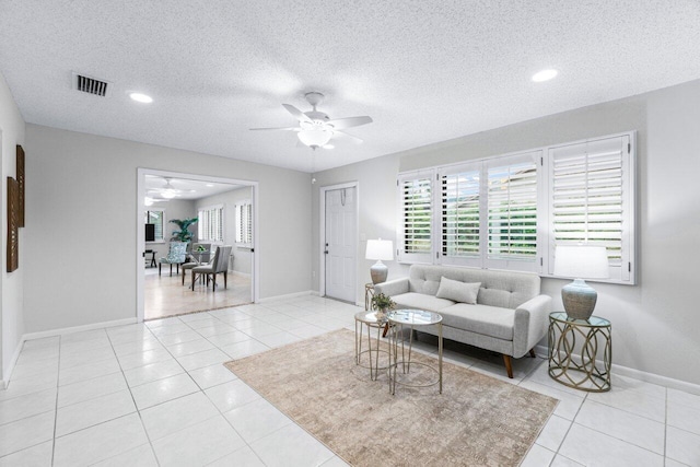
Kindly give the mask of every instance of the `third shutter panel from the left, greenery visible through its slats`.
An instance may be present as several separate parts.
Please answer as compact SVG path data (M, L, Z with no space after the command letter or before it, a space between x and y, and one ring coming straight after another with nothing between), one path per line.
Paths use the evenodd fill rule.
M537 165L540 152L487 161L486 267L538 270Z

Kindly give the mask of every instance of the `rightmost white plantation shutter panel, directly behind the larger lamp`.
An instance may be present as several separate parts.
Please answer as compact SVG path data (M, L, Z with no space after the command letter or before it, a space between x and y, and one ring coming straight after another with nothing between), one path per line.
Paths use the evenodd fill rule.
M603 245L612 280L633 281L628 135L551 148L549 272L556 245Z

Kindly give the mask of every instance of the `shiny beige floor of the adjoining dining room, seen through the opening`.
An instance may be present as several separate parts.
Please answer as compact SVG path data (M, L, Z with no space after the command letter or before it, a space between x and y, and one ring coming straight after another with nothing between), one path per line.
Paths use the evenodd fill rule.
M143 283L145 319L250 303L250 278L246 276L230 272L229 283L224 289L223 276L219 275L215 293L212 292L211 284L206 287L199 281L192 291L188 287L191 283L190 278L188 271L183 285L182 276L176 273L175 268L173 276L170 275L167 265L163 267L161 276L158 275L158 268L147 268Z

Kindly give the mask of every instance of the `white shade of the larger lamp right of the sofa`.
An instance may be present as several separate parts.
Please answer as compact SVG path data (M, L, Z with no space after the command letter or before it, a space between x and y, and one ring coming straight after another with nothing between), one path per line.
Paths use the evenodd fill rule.
M557 245L555 275L581 279L609 278L608 254L605 246Z

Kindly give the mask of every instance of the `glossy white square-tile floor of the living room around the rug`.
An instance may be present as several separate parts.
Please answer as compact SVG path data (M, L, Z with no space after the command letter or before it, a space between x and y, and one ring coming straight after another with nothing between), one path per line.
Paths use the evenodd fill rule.
M26 341L0 390L0 466L345 465L221 363L354 329L359 310L301 296ZM700 466L700 396L619 375L582 393L541 358L516 360L509 380L500 357L445 348L560 400L523 466Z

